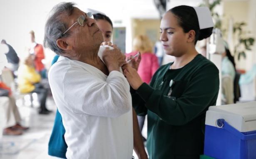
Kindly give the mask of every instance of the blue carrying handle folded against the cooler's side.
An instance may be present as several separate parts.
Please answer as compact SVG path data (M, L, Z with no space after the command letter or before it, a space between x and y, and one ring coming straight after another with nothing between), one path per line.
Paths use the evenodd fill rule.
M251 139L256 139L256 134L243 134L242 132L236 130L233 126L229 125L224 119L218 119L216 121L217 128L223 128L232 134L236 135L239 137L241 140L251 140Z

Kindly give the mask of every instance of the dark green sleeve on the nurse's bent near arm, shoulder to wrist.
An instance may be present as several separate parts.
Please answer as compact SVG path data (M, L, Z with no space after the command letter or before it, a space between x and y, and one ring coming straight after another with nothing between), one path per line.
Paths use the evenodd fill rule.
M218 92L219 70L214 64L196 71L179 98L171 99L163 95L161 90L153 89L145 83L137 90L145 106L171 125L184 125L205 113L216 100Z

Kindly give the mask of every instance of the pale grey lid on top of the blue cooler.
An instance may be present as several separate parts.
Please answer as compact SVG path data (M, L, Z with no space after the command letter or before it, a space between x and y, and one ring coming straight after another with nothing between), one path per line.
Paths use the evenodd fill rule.
M216 127L216 120L223 118L240 132L256 130L256 101L249 103L210 106L206 112L206 125Z

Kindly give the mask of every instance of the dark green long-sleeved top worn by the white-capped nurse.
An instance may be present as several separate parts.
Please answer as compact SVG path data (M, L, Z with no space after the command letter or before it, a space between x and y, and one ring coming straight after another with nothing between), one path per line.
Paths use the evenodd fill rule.
M150 159L199 159L204 149L204 122L216 104L219 70L201 54L180 69L163 65L132 90L138 115L148 115L147 150Z

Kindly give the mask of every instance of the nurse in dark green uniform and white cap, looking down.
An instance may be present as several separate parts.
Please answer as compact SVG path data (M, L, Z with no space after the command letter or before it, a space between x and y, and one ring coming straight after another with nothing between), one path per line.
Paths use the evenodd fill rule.
M212 29L207 7L174 7L160 24L164 51L174 62L161 66L150 84L130 65L123 67L137 115L148 115L150 159L199 159L203 154L205 115L216 104L219 70L195 45Z

